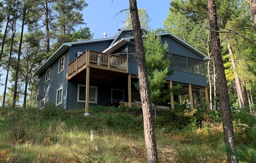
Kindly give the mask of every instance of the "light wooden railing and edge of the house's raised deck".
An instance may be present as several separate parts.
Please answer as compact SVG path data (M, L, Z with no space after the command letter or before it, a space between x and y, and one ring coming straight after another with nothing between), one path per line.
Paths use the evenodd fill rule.
M86 50L72 62L68 63L68 77L75 77L77 74L92 67L99 70L128 73L128 58L113 54L101 53L93 50Z

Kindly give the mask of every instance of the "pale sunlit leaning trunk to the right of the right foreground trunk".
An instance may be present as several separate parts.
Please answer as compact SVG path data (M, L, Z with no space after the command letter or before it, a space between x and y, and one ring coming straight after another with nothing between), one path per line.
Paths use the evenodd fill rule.
M227 41L229 41L229 38L227 38ZM243 91L241 88L240 79L239 79L237 71L236 71L236 63L235 63L235 59L234 59L232 46L229 43L228 43L228 49L229 49L229 55L230 55L232 66L233 66L234 75L235 75L235 86L236 86L236 92L238 95L239 107L242 108L242 107L244 107Z

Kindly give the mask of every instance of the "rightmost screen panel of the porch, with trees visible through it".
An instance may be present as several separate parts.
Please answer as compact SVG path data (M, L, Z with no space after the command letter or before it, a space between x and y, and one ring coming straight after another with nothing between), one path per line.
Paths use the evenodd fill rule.
M193 74L205 75L203 61L188 57L188 72Z

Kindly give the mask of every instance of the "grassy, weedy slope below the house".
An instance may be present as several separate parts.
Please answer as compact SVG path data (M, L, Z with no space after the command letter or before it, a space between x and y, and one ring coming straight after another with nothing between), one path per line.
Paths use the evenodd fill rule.
M0 163L146 163L141 109L95 106L89 110L90 116L84 117L83 109L51 105L43 110L1 108ZM210 122L210 114L199 124L191 121L191 114L182 113L158 111L159 163L226 161L221 124Z

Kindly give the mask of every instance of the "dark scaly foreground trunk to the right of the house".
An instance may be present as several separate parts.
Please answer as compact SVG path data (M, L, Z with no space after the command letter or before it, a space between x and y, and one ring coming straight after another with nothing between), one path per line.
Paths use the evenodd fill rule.
M229 94L227 90L226 76L224 72L223 60L220 50L220 36L219 33L216 32L219 31L219 28L217 23L215 0L207 1L211 29L211 44L215 63L216 81L220 96L220 108L223 121L224 139L226 145L230 146L232 150L235 151L235 134L232 124L232 114L229 104ZM238 159L236 159L234 153L227 152L227 160L228 163L238 163Z

